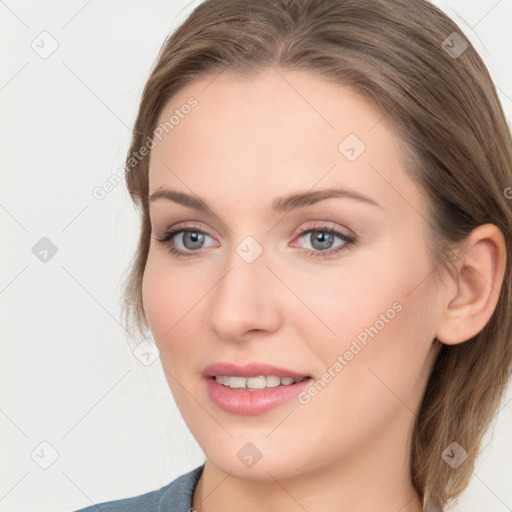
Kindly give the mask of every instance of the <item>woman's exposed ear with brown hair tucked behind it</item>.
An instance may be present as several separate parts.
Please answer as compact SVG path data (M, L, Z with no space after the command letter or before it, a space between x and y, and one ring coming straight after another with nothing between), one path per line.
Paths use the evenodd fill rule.
M456 291L443 305L436 338L455 345L478 334L498 303L506 268L506 244L494 224L482 224L466 239L457 262Z

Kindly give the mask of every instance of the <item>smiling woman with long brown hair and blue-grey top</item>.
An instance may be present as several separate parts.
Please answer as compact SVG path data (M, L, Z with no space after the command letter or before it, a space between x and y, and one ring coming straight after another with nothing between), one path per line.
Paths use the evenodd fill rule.
M512 142L454 22L425 0L207 0L133 134L126 319L206 461L101 510L455 500L511 374Z

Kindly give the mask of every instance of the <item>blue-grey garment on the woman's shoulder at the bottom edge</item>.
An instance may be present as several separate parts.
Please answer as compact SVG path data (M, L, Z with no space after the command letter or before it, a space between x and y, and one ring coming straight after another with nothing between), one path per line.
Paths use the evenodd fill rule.
M139 496L97 503L76 512L189 512L192 496L203 472L199 466L158 490Z

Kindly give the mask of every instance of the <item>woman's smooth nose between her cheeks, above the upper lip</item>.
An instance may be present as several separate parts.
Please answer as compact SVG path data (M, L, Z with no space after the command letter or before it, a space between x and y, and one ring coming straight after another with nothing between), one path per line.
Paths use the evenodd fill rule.
M212 290L209 327L219 338L232 341L274 332L282 322L279 300L284 291L264 252L252 263L234 252Z

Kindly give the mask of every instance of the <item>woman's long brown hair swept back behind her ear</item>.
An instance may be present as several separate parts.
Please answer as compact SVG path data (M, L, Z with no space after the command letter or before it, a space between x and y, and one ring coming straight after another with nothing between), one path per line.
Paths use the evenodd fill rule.
M426 0L206 0L165 41L146 83L126 159L140 208L138 247L124 288L128 330L145 337L142 277L151 225L150 154L133 159L166 103L186 84L224 69L303 70L354 87L382 109L429 205L439 277L477 226L497 225L506 273L496 309L474 338L442 345L414 426L411 481L425 511L443 510L469 483L480 444L512 372L512 142L493 81L459 27ZM468 453L454 469L442 453Z

